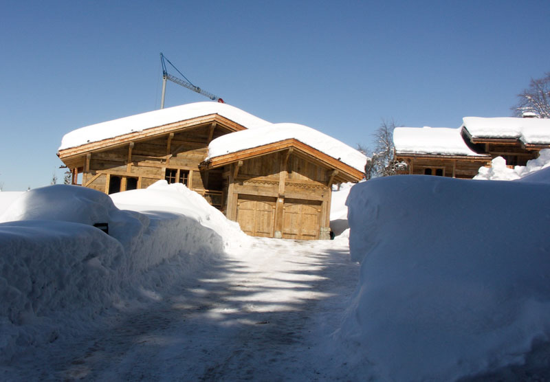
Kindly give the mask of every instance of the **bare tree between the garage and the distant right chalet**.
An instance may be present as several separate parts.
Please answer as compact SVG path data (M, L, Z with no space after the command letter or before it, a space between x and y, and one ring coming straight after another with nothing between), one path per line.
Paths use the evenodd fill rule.
M369 159L365 165L365 178L388 177L397 174L404 164L395 160L393 147L394 120L382 120L382 124L373 133L374 149L358 145L360 150ZM406 165L405 165L406 166Z

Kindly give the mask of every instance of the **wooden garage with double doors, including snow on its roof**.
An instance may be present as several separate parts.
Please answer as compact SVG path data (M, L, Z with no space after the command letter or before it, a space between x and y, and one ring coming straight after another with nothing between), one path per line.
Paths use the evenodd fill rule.
M337 147L315 144L327 138ZM222 170L225 214L247 234L311 240L330 238L331 186L362 179L365 162L312 128L274 124L214 140L201 168Z

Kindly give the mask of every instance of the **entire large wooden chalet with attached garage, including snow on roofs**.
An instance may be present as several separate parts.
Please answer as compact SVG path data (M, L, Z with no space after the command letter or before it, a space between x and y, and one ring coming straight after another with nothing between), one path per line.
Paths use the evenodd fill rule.
M266 141L267 131L290 131L276 126L228 104L199 102L72 131L58 157L73 184L112 194L162 179L184 183L252 236L329 238L331 185L362 179L366 157L306 126L309 137L296 139L300 125ZM320 146L311 136L322 136ZM209 144L232 150L208 155ZM335 148L344 154L335 158Z

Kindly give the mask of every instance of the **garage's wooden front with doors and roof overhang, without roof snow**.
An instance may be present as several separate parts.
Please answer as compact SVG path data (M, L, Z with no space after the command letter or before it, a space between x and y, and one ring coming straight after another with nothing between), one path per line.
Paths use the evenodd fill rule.
M362 172L296 139L210 159L223 168L225 214L252 236L330 238L331 186Z

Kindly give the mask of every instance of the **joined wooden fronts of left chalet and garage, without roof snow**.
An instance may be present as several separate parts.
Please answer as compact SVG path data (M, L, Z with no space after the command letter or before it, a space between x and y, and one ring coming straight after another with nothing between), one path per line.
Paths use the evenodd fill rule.
M212 139L241 130L213 114L66 148L58 156L74 184L111 194L166 179L203 195L252 236L329 238L331 186L359 181L362 172L296 139L205 161Z

